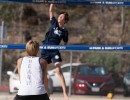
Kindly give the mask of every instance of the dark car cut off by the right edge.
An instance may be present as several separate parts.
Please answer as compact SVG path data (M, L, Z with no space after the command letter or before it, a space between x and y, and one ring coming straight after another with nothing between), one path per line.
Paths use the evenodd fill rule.
M130 95L130 71L123 77L124 96Z

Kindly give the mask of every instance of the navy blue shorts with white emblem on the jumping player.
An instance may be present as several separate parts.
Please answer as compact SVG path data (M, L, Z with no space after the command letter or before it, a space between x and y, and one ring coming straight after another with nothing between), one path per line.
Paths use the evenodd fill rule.
M45 59L48 64L62 61L59 50L42 50L41 57Z

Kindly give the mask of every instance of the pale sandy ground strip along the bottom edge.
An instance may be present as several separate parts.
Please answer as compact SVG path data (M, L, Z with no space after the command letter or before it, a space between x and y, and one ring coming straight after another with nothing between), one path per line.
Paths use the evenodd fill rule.
M7 92L0 92L0 100L13 100L15 94ZM50 100L64 100L62 93L54 93L50 96ZM110 100L106 96L95 95L72 95L69 100ZM115 95L112 100L130 100L130 97L123 97L123 95Z

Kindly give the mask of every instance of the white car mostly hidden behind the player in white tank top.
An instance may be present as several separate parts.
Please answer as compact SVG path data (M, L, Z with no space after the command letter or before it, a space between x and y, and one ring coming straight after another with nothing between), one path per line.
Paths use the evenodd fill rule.
M19 78L18 78L17 67L14 69L14 71L7 71L7 74L10 77L9 78L9 93L12 94L12 93L18 92L20 82L19 82ZM47 77L48 77L49 92L50 92L50 94L52 94L53 93L52 79L49 75Z

